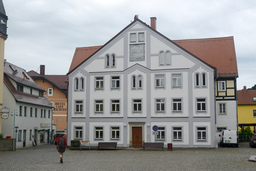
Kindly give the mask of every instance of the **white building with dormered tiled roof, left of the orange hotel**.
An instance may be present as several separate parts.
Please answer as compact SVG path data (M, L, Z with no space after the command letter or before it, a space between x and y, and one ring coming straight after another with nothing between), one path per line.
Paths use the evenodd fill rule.
M4 137L14 136L17 127L16 148L43 145L50 142L52 130L53 105L44 95L43 88L27 74L25 70L13 64L4 64L3 106L10 109L2 122ZM15 129L16 130L16 129Z

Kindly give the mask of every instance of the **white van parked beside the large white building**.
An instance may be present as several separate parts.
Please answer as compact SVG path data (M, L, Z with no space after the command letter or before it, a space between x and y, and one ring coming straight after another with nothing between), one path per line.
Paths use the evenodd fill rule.
M220 139L220 146L224 145L234 145L238 147L238 133L236 130L222 130Z

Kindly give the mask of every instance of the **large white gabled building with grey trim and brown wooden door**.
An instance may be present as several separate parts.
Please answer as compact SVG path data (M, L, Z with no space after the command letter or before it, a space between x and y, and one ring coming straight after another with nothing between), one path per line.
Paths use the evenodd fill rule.
M218 40L223 41L200 39L190 44ZM215 111L220 77L214 60L202 59L212 54L193 55L183 43L189 45L157 32L155 17L148 26L135 16L105 45L77 48L68 73L68 145L79 139L91 145L113 141L123 147L155 141L174 147L215 147L215 123L222 117ZM223 84L222 92L227 82ZM225 116L234 118L236 113ZM154 125L157 136L152 135ZM236 123L230 125L236 128Z

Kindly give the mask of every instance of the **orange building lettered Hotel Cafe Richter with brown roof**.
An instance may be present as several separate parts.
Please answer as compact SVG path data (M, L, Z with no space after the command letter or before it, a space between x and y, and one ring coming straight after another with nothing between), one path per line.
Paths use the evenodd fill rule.
M45 75L45 66L40 66L40 74L29 71L28 74L44 90L46 96L52 102L54 110L52 113L52 123L56 125L57 132L67 132L67 75Z

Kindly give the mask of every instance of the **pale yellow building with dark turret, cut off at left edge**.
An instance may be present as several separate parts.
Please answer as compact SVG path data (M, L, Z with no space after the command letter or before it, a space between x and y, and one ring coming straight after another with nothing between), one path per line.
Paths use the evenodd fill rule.
M7 20L3 1L0 0L0 109L3 108L3 66L4 66L4 45L7 39ZM0 119L0 133L2 132L2 119Z

